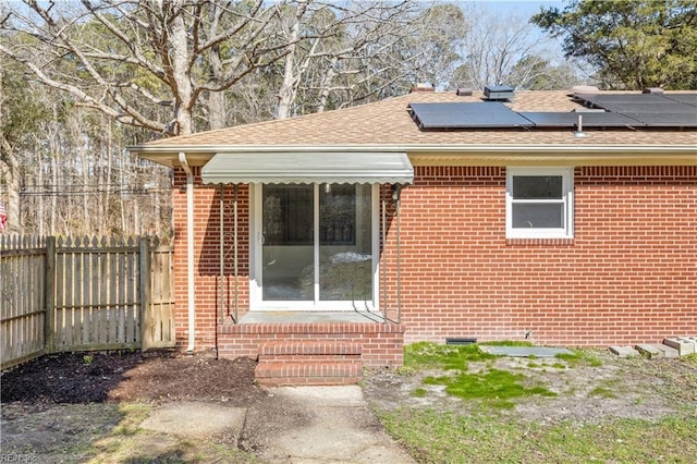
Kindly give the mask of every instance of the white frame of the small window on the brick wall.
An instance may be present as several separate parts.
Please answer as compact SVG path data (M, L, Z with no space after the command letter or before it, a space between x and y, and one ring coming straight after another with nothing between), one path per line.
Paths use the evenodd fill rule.
M573 239L574 237L574 168L570 167L509 167L505 174L505 236L506 239ZM561 199L515 199L513 178L536 175L561 175ZM562 204L561 228L513 228L514 204Z

